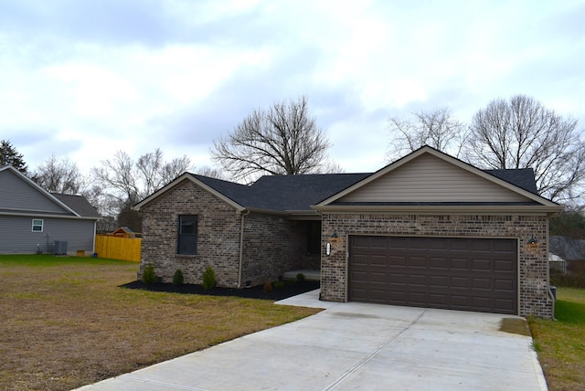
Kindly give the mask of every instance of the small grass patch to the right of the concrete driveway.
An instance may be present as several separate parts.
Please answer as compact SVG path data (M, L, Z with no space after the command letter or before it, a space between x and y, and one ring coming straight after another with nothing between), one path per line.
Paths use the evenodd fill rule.
M582 390L585 385L585 289L557 289L557 321L529 318L548 388Z

